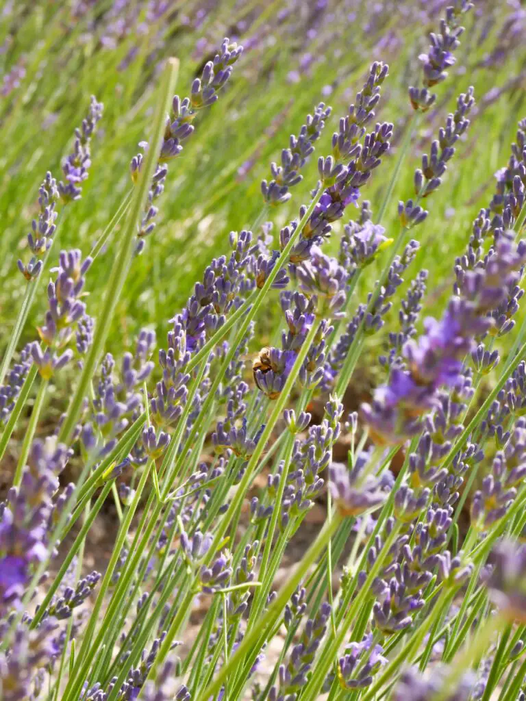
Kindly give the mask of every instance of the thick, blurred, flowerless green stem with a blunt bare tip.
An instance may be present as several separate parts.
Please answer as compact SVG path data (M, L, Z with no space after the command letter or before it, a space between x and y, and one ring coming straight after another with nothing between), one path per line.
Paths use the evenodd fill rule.
M128 276L128 269L135 245L135 237L137 235L137 222L139 222L142 216L151 184L151 177L154 175L157 158L161 151L166 111L168 110L168 104L171 99L170 96L173 94L178 65L179 62L175 58L171 58L166 62L161 88L159 89L159 100L157 100L156 103L154 128L152 130L149 149L139 175L135 197L133 198L130 214L128 215L126 227L121 238L121 247L118 254L116 254L115 264L112 267L112 273L108 280L104 305L98 316L97 325L95 326L93 345L84 360L79 383L76 386L65 421L60 428L59 440L65 443L69 442L76 422L79 420L84 397L88 393L89 383L95 374L95 367L103 351L104 343L106 342L109 329L112 325L117 301L119 300L123 285Z

